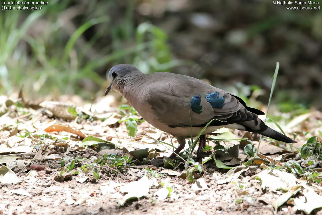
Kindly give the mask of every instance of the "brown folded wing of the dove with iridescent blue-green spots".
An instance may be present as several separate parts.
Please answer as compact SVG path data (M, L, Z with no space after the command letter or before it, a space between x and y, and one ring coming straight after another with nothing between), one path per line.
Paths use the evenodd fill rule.
M199 79L173 73L154 73L149 77L144 103L155 119L170 127L226 125L256 119L260 110L249 108L237 96Z

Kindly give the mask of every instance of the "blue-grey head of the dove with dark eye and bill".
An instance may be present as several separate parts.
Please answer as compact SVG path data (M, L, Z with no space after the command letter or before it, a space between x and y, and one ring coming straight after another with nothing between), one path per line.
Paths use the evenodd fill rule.
M110 90L114 90L116 87L120 87L121 83L124 83L124 79L131 77L132 75L142 74L135 66L130 64L118 64L113 66L109 70L108 79L111 82L107 87L105 94L107 95Z

